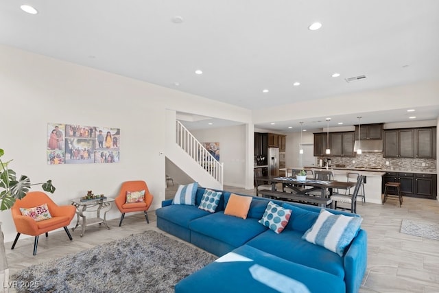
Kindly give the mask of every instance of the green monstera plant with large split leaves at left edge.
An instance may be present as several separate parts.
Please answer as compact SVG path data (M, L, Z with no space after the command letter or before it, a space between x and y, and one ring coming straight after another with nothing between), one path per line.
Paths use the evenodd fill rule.
M0 149L0 157L5 152ZM21 175L17 180L14 170L9 169L8 165L11 162L3 162L0 159L0 210L4 211L10 209L15 200L24 198L32 185L41 185L44 191L54 193L55 187L51 180L45 183L31 183L29 177Z

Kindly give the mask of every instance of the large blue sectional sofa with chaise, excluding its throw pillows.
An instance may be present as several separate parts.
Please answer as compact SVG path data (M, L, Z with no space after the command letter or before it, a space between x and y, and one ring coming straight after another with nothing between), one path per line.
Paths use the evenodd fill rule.
M244 220L224 214L230 192L221 192L215 213L198 209L204 194L202 187L196 191L195 205L165 200L156 210L158 228L220 257L180 281L176 292L282 292L283 288L276 286L294 287L294 282L299 284L295 288L301 284L309 290L297 292L358 292L366 272L366 231L359 229L340 256L302 239L322 208L250 196L252 201ZM270 201L292 210L281 233L259 223ZM344 211L328 211L359 217ZM238 261L230 261L237 256ZM251 261L239 261L243 257Z

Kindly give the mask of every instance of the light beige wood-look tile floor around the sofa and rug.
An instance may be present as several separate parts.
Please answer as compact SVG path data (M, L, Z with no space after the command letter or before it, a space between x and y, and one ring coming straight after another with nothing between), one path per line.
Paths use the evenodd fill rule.
M176 188L174 185L167 189L167 198L174 196ZM254 195L253 189L224 189ZM439 241L399 233L403 219L438 223L438 201L404 198L401 208L396 200L384 205L359 203L357 212L364 218L362 228L368 232L368 268L359 292L439 292ZM146 224L143 214L138 213L127 215L121 227L119 219L109 220L110 230L99 225L88 226L84 237L79 236L80 231L73 232L72 242L64 231L50 233L47 239L42 235L35 257L32 256L33 238L20 239L14 250L10 250L12 243L6 243L10 275L34 263L76 253L132 233L159 231L154 211L148 215L150 224Z

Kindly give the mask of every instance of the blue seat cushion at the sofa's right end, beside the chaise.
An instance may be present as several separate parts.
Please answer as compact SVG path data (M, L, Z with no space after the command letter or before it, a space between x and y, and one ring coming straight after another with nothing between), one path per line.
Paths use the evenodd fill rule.
M303 266L329 272L344 279L344 259L330 250L302 239L303 233L284 229L276 234L265 231L246 244Z

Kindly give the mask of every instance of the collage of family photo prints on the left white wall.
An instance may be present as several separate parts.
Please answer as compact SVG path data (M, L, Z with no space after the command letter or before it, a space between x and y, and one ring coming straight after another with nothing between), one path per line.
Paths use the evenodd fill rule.
M119 128L47 124L47 164L119 163Z

